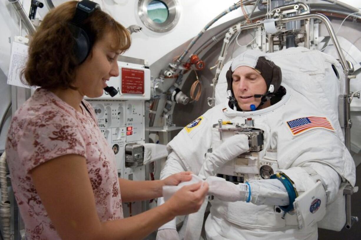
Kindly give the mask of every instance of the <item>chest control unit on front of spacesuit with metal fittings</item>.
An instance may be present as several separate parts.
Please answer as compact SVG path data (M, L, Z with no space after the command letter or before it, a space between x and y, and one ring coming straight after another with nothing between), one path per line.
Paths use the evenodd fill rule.
M222 143L227 144L227 138L234 134L248 135L251 146L248 152L223 165L217 171L218 176L231 182L243 183L252 179L269 178L278 169L277 150L271 149L271 131L265 116L251 118L224 115L222 118L214 118L213 123L212 148L209 152Z

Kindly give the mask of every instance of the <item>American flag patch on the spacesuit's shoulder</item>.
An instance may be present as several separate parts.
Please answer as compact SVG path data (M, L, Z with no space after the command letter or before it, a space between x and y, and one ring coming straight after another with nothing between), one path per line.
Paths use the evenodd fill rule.
M323 128L330 131L335 131L330 121L324 117L297 118L286 123L290 128L293 136L314 128Z

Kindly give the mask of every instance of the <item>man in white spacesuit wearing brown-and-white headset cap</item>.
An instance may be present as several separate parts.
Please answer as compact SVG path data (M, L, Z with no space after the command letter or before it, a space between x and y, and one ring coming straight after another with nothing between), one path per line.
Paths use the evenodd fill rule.
M161 178L192 171L208 181L208 240L317 239L340 184L355 185L339 123L281 86L280 68L262 52L236 57L226 77L229 99L170 141ZM199 239L201 226L190 215L184 239ZM157 239L179 239L175 220Z

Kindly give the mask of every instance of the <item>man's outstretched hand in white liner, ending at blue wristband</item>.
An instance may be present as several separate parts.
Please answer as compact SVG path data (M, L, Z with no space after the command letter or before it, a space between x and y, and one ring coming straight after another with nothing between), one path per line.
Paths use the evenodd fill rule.
M209 176L206 179L209 184L208 195L226 202L246 201L249 195L249 186L244 183L234 184L224 178Z

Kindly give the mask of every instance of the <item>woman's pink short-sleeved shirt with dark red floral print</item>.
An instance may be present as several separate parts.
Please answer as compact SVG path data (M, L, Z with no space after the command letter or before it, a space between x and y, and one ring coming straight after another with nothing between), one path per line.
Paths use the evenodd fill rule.
M86 158L100 221L123 218L113 150L97 126L91 105L83 114L50 91L37 89L13 116L6 160L25 223L27 239L60 239L38 196L29 172L53 158L78 154Z

